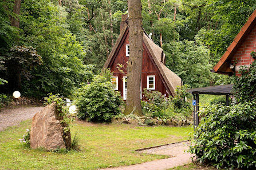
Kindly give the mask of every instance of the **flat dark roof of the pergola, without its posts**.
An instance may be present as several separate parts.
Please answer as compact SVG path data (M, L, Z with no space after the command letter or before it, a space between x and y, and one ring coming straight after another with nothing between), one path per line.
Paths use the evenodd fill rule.
M188 89L191 94L230 95L234 84Z

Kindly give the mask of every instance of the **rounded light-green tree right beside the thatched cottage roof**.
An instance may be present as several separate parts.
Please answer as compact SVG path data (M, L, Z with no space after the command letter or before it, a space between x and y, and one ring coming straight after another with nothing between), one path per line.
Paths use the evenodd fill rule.
M166 66L191 87L208 86L211 81L210 50L194 41L164 44ZM200 78L199 78L200 77Z

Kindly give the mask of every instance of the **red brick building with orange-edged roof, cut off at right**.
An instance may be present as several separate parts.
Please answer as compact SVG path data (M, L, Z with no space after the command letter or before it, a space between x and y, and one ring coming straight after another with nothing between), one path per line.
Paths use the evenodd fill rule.
M241 76L238 73L239 68L250 66L254 61L251 56L252 51L256 51L256 10L250 15L237 37L214 66L214 72L227 75L232 75L235 72L235 75ZM235 64L235 68L231 69L233 64Z

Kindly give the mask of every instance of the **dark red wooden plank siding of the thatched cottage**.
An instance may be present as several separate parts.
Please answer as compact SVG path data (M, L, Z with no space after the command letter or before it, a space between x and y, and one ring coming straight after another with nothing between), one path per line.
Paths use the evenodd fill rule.
M115 52L113 59L110 63L111 71L113 72L113 76L118 76L118 91L121 92L121 95L123 96L123 76L126 76L125 73L127 73L126 66L128 62L128 56L126 56L126 44L129 44L128 41L129 38L129 32L124 34L124 37L122 41L119 44L119 47L117 47L117 51ZM147 88L147 75L155 75L155 86L156 91L162 92L162 94L167 94L166 87L164 86L164 83L161 79L161 75L159 75L159 71L157 70L157 67L155 66L155 63L153 62L151 55L148 54L148 50L145 49L145 46L143 46L143 68L142 68L142 74L141 74L141 88ZM124 74L119 71L119 69L116 67L117 63L123 64L125 67L122 69L124 71ZM168 95L167 95L168 96Z

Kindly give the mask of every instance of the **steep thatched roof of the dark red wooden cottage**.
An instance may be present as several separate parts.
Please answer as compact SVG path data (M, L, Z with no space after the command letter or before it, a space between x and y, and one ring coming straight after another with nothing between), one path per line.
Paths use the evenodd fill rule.
M119 37L117 38L117 41L115 43L115 46L113 46L111 53L108 56L108 59L106 60L104 64L104 68L108 68L111 64L112 58L115 57L117 48L119 47L119 44L122 43L122 39L125 34L127 34L128 25L125 25L123 29L121 30L121 33ZM157 44L153 43L152 39L150 39L147 35L147 33L143 33L143 43L147 47L148 52L150 53L153 62L155 62L157 70L160 72L161 79L163 80L165 86L168 88L168 92L171 92L172 96L175 96L175 88L176 86L182 86L183 82L182 79L179 78L178 75L176 75L174 72L169 70L166 66L164 66L164 58L165 54L163 53L163 49L157 46Z

